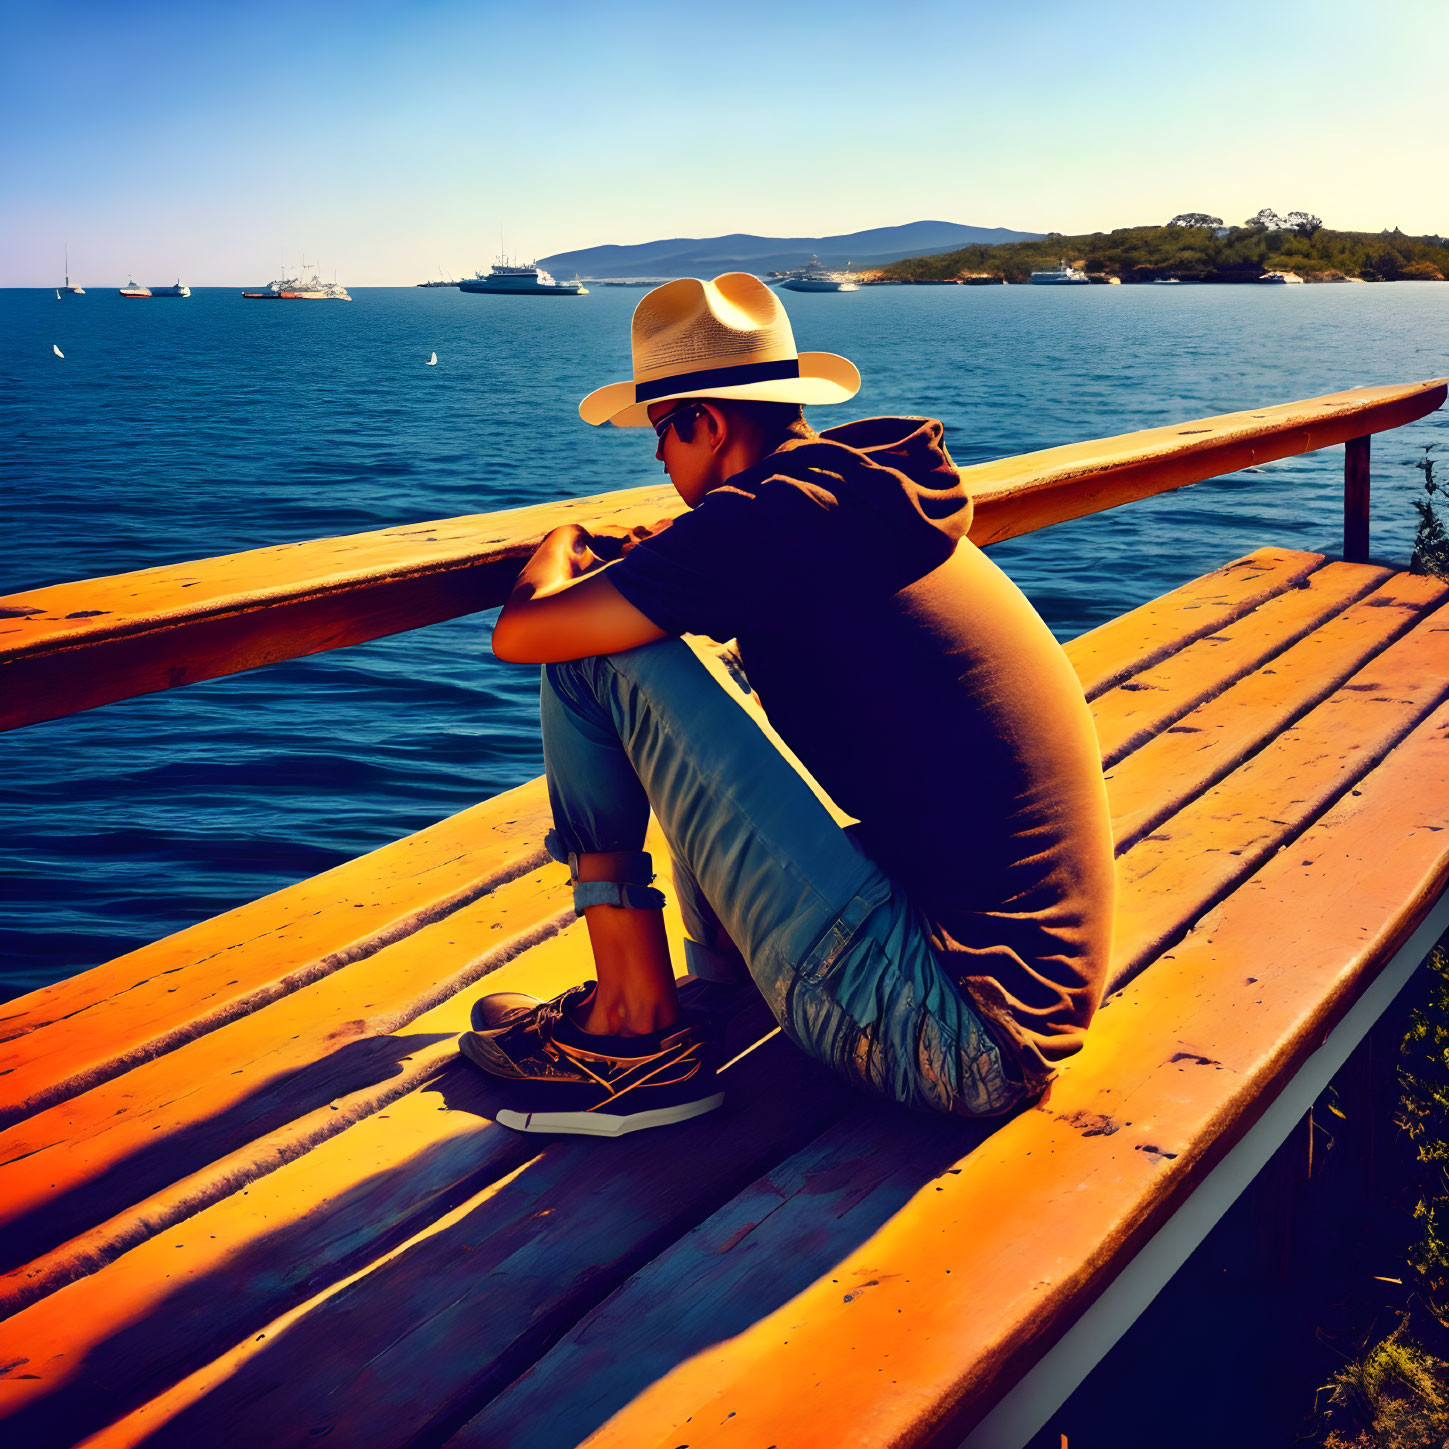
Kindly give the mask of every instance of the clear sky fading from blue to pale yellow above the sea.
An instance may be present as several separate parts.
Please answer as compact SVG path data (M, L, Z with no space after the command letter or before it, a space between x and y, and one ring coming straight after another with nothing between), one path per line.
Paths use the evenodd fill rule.
M904 17L909 17L904 19ZM1264 206L1449 233L1446 0L0 0L0 285Z

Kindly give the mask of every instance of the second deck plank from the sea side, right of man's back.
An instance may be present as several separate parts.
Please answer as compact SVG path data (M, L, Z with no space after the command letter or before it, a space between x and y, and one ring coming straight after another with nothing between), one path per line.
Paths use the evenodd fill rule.
M1116 765L1391 577L1387 568L1329 564L1224 629L1098 694L1093 719L1103 764Z

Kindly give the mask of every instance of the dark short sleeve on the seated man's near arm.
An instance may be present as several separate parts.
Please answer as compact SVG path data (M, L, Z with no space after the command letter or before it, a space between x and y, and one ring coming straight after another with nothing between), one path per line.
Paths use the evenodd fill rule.
M609 581L665 633L733 639L767 626L798 597L835 500L775 478L758 493L707 494L662 533L632 548Z

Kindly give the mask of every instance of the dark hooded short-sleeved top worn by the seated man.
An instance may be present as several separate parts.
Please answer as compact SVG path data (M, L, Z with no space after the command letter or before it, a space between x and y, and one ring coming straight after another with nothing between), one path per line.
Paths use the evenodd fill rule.
M1077 677L966 540L940 433L877 417L791 440L609 578L668 633L738 639L771 724L1035 1084L1101 1000L1107 800Z

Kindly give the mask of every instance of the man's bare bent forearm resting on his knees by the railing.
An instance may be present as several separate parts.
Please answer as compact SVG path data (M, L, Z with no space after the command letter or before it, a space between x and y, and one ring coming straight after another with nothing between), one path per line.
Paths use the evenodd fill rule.
M567 523L538 546L494 626L493 652L500 659L556 664L665 638L609 582L606 561L591 543L584 527Z

